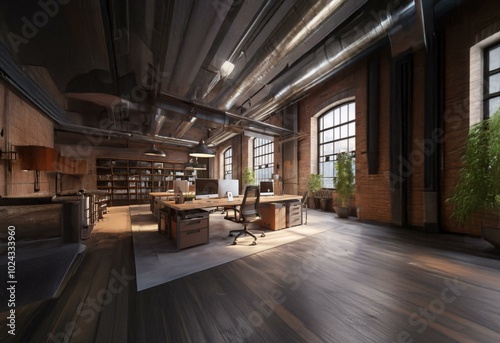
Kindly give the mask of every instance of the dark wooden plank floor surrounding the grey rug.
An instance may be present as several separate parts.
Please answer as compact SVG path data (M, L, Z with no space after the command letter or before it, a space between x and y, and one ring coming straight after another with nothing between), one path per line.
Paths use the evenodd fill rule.
M330 219L322 234L137 292L128 208L111 208L61 296L18 308L15 340L2 324L0 341L500 342L498 251Z

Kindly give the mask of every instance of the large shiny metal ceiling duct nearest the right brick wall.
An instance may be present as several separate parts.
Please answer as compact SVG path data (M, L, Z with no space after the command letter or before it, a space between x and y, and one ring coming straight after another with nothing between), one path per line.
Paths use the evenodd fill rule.
M331 77L383 38L390 37L403 26L397 24L402 24L415 14L414 1L392 11L372 10L365 13L353 23L354 28L350 27L345 35L339 34L318 48L311 62L297 66L297 70L291 73L293 78L282 80L281 84L273 86L270 96L250 109L247 116L262 120L298 94L303 94ZM366 28L369 30L363 32Z

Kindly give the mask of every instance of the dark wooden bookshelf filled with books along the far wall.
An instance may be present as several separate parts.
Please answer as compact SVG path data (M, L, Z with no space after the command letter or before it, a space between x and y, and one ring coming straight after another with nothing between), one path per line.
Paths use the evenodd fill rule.
M194 182L184 163L96 158L97 189L109 195L110 206L149 203L149 193L173 189L174 180Z

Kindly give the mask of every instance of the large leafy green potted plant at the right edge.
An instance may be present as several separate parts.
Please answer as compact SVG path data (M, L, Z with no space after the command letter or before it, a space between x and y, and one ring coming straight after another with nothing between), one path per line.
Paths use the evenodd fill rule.
M500 246L500 223L485 223L486 216L500 214L500 109L469 130L463 168L451 197L453 217L460 224L481 215L483 238ZM496 227L495 227L496 226Z

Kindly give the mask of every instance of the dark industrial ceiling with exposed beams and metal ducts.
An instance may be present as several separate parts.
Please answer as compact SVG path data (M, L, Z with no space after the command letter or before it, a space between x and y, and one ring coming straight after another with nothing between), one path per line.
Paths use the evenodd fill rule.
M378 0L0 6L2 73L42 103L61 137L83 132L181 147L200 139L217 145L242 129L293 134L265 119L415 12L413 1Z

